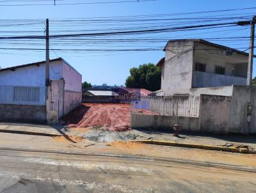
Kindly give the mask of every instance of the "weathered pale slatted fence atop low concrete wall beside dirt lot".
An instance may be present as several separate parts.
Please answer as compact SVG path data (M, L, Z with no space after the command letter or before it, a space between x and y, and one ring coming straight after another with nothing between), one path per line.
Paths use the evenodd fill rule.
M141 96L132 102L132 112L163 116L199 116L199 96Z

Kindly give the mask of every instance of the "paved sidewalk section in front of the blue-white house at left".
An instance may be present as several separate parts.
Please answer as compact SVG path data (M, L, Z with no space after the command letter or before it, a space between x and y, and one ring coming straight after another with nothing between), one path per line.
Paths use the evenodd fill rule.
M65 129L63 128L63 125L0 122L0 132L28 135L60 136L65 133Z

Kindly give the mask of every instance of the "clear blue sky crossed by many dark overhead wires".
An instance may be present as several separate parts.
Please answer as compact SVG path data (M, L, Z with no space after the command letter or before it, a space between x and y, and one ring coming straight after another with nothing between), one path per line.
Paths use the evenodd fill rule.
M45 60L46 18L50 57L64 58L92 84L124 84L130 68L163 58L168 40L250 49L250 26L237 22L256 15L253 1L128 1L0 0L0 66Z

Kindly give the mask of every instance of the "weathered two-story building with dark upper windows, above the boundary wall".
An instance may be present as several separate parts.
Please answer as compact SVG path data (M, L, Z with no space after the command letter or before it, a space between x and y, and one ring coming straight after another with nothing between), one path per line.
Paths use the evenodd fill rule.
M201 39L170 40L164 47L161 90L189 94L193 88L246 85L248 53Z

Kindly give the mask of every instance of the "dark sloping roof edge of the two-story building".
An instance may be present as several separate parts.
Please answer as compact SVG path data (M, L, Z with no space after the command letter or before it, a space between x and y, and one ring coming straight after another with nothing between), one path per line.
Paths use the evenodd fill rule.
M243 51L240 51L240 50L237 50L237 49L233 49L233 48L227 47L225 45L220 45L218 43L208 42L208 41L202 40L202 39L177 39L177 40L169 40L168 42L186 42L186 41L200 42L200 43L203 43L205 45L211 45L212 47L218 47L219 49L224 49L224 50L230 49L234 52L237 52L238 54L249 56L249 54L247 52L243 52ZM166 43L166 45L167 44L168 43ZM166 49L166 46L164 47L164 51L165 51L165 49ZM253 57L256 58L256 55L253 55Z

